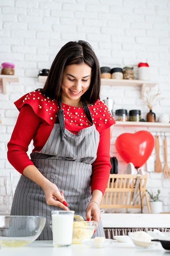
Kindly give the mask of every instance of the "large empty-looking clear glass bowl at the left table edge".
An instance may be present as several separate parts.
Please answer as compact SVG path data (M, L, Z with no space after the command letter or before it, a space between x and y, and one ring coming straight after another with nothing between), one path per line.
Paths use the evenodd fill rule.
M39 237L45 223L41 216L0 216L0 245L28 245Z

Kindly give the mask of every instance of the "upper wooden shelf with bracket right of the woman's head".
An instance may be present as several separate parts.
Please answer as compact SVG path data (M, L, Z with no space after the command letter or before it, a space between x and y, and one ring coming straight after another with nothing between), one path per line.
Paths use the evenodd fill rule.
M101 79L101 85L111 85L111 86L140 86L141 87L141 97L144 95L144 90L146 87L154 87L157 82L144 81L144 80L128 80L128 79Z

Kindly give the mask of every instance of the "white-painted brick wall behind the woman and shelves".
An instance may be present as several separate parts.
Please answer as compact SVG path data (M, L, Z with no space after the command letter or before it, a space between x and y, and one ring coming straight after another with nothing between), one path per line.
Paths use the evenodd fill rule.
M139 62L150 65L150 80L158 81L161 97L153 109L157 119L161 113L170 114L170 2L168 0L0 0L0 63L15 63L19 83L7 84L7 94L0 85L0 212L9 211L11 196L7 196L5 182L13 175L13 186L20 174L7 161L7 142L18 112L13 104L24 93L42 87L38 71L50 68L59 49L70 40L87 40L94 48L100 66L124 67ZM156 88L157 88L156 87ZM146 117L140 88L104 86L101 98L115 101L114 110L134 108ZM142 128L143 129L143 128ZM126 163L115 149L115 140L122 132L136 132L141 128L114 128L111 156L119 162L124 173ZM164 166L163 137L168 140L170 166L170 129L144 128L160 137L160 159ZM31 147L30 150L31 152ZM152 153L156 157L155 148ZM146 170L146 164L142 166ZM147 188L161 189L163 210L170 211L170 179L162 173L148 173ZM168 194L169 193L169 194ZM9 202L9 205L8 205Z

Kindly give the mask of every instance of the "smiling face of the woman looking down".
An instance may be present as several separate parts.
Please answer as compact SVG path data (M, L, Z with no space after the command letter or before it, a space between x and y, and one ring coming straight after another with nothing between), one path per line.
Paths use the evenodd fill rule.
M81 96L89 89L92 68L87 64L72 64L65 67L61 83L61 97L65 103L80 101Z

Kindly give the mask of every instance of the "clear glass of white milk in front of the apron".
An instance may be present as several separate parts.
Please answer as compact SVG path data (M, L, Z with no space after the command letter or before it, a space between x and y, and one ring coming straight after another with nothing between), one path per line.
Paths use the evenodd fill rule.
M74 211L52 211L52 240L54 247L72 244Z

